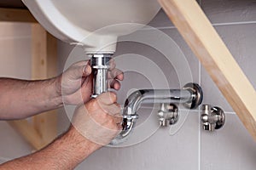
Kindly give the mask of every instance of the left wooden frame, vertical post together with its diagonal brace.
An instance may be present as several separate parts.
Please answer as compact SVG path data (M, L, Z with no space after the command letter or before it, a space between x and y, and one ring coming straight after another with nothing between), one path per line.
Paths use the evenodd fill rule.
M57 40L39 24L32 24L32 79L56 76ZM49 144L57 135L57 112L47 111L27 120L9 121L36 150Z

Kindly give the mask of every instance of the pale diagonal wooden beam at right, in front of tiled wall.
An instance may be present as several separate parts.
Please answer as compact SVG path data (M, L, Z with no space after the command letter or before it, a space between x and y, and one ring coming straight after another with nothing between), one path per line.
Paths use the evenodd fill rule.
M158 1L256 140L256 92L200 6L193 0Z

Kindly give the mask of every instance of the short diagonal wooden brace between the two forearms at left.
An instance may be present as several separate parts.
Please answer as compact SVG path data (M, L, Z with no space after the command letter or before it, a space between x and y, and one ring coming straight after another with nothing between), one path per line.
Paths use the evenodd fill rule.
M9 125L14 127L15 130L17 130L28 143L32 144L36 150L44 147L44 143L42 142L40 135L35 128L32 127L31 123L27 122L26 120L20 120L9 121Z

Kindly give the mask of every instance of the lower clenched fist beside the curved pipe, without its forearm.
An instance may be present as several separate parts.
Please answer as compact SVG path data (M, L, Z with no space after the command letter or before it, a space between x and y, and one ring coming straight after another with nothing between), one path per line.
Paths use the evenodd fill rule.
M73 126L84 139L96 144L96 147L108 144L121 130L123 118L116 95L108 92L81 105L73 116Z

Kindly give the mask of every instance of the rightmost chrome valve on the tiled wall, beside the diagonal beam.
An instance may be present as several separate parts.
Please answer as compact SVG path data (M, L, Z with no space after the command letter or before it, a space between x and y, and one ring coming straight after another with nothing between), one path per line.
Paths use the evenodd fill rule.
M224 126L224 111L212 105L202 105L201 113L202 128L207 131L214 131Z

